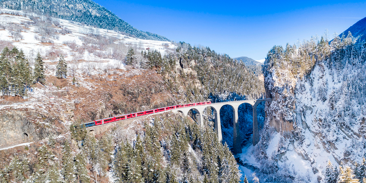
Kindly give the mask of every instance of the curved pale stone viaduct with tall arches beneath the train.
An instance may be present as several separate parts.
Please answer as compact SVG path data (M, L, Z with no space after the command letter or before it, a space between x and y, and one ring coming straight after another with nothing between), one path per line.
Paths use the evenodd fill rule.
M267 102L271 102L272 99L271 98L267 98L267 99L259 99L259 100L238 100L238 101L228 101L228 102L217 102L217 103L212 103L212 104L206 104L206 105L196 105L196 106L190 106L190 107L184 107L184 108L178 108L178 109L172 109L169 111L172 112L180 112L183 116L188 115L188 112L191 109L194 109L198 115L200 116L198 119L198 123L203 127L203 123L202 123L202 119L203 119L203 111L207 108L207 107L212 107L214 110L214 117L215 117L215 123L214 123L214 127L217 133L217 137L219 138L219 141L221 142L223 137L222 137L222 132L221 132L221 122L220 122L220 109L221 107L223 107L224 105L230 105L233 109L233 126L234 126L234 132L233 132L233 153L234 154L238 154L238 153L242 153L242 147L241 147L241 139L240 139L240 133L239 133L239 124L238 124L238 108L240 105L247 103L250 104L253 107L253 146L255 146L258 142L259 142L259 130L258 130L258 120L257 120L257 105L260 102L263 101L267 101ZM164 111L164 112L168 112L168 111ZM160 112L159 112L160 113ZM156 114L156 113L154 113ZM153 114L151 114L153 115ZM148 116L148 115L146 115ZM118 122L113 122L113 123L107 123L107 124L102 124L102 125L98 125L98 126L93 126L93 127L89 127L87 128L89 132L93 132L96 134L100 134L103 131L106 131L110 126L112 126L113 124L119 124L122 126L126 126L128 124L130 124L132 121L136 120L136 119L143 119L146 116L139 116L139 117L134 117L134 118L130 118L130 119L126 119L126 120L121 120Z

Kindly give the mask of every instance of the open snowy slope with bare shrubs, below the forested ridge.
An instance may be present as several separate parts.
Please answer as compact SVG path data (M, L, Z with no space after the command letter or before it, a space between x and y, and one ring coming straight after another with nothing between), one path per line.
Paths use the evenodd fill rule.
M45 61L63 55L67 61L121 65L128 49L157 50L165 55L176 46L167 41L142 40L113 30L100 29L24 11L0 9L0 49L14 45L30 56L40 52Z

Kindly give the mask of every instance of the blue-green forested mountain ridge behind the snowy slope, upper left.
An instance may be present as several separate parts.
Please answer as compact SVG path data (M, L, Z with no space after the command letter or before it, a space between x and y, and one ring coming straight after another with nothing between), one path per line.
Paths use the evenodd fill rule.
M164 36L136 29L91 0L0 0L0 7L53 16L101 29L122 31L140 39L169 41Z

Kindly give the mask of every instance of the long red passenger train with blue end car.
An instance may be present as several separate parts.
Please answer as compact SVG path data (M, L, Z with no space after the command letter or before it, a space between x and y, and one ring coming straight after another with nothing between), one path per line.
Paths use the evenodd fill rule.
M169 111L169 110L172 110L172 109L190 107L190 106L195 106L195 105L206 105L206 104L211 104L211 102L208 101L208 102L197 102L197 103L183 104L183 105L172 105L172 106L168 106L168 107L152 109L152 110L148 110L148 111L141 111L141 112L126 114L126 115L121 115L121 116L107 117L107 118L104 118L104 119L98 119L98 120L94 120L92 122L88 122L88 123L84 123L84 124L85 124L85 127L90 127L90 126L95 126L95 125L100 125L100 124L116 122L116 121L119 121L119 120L130 119L132 117L149 115L149 114L152 114L152 113L163 112L163 111Z

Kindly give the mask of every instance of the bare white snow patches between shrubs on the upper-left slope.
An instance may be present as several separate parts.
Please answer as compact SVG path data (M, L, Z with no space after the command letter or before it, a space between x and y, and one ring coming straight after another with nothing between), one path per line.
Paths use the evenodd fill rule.
M11 14L19 14L11 15ZM56 33L56 37L58 38L49 38L53 44L42 43L37 40L36 37L41 37L42 35L36 33L36 26L29 25L29 28L24 27L21 24L26 24L26 22L33 22L29 17L35 16L40 19L46 19L45 16L39 16L31 13L25 13L23 11L15 11L8 10L4 8L0 8L0 25L10 26L10 25L19 25L23 27L23 31L21 34L23 36L22 40L15 41L14 38L11 37L10 31L8 27L5 30L0 30L0 40L2 41L10 41L14 46L17 46L18 49L23 49L26 55L35 56L37 52L41 53L45 62L55 62L57 60L47 60L46 56L48 53L53 51L54 49L60 49L64 52L65 60L70 62L72 60L85 60L85 63L77 64L77 67L82 68L85 67L85 64L94 64L97 68L107 67L107 66L117 66L119 65L121 69L124 69L123 64L121 66L121 61L111 59L111 58L100 58L94 55L94 53L89 53L85 51L83 54L75 54L71 52L71 49L68 48L67 45L64 44L66 41L75 41L78 46L83 44L81 38L90 38L87 34L100 35L104 38L114 39L113 43L115 44L124 44L127 47L134 47L138 50L146 50L146 48L150 48L150 51L157 50L162 55L166 55L169 52L173 52L176 49L176 46L171 42L167 41L154 41L154 40L142 40L138 38L133 38L130 36L126 36L124 34L118 33L113 30L99 29L91 26L81 25L77 22L72 22L63 19L54 18L55 21L60 23L61 28L67 28L71 30L72 33L69 34L59 34ZM61 30L60 27L52 26L55 30ZM94 39L95 38L91 38ZM108 48L104 53L112 52L112 48ZM57 58L58 59L58 58Z

